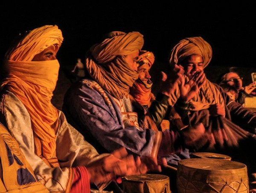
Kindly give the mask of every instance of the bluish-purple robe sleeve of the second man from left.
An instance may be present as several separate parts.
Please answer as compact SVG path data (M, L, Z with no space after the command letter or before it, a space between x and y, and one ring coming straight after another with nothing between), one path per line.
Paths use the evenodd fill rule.
M67 91L63 111L79 123L81 133L87 130L108 152L125 147L128 153L151 156L154 148L159 147L159 134L135 126L124 128L120 110L113 106L113 101L107 103L105 100L111 98L103 95L90 83L78 82Z

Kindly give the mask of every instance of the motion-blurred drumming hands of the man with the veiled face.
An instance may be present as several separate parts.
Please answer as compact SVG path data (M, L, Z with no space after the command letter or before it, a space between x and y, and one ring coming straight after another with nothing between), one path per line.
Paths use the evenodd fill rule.
M120 182L120 176L135 174L138 167L140 167L140 159L135 162L134 157L128 155L125 148L115 150L112 154L86 166L91 183L110 180Z

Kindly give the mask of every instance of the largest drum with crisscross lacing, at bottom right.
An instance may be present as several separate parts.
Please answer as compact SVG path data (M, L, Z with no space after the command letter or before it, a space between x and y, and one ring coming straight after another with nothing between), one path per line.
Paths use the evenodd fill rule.
M226 159L191 158L178 162L178 193L248 193L247 166Z

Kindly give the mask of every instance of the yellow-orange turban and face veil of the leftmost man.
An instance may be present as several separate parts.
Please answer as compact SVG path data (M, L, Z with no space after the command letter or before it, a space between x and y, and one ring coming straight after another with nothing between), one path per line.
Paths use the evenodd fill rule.
M7 78L1 84L15 94L29 112L32 129L42 143L43 159L54 156L58 110L52 105L52 92L58 80L58 60L32 61L49 46L55 50L63 41L58 26L43 26L30 31L6 52ZM40 156L40 155L38 155Z

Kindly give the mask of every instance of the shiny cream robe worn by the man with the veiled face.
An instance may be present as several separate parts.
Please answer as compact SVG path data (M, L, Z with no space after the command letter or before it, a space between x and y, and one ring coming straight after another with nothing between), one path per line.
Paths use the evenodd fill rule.
M4 102L4 105L3 105ZM51 192L65 192L70 187L73 176L70 176L70 167L87 165L93 160L99 159L107 154L99 156L96 149L88 142L75 128L67 123L64 114L58 112L60 126L56 134L56 153L60 167L49 167L41 158L34 153L33 132L28 111L15 97L14 94L7 91L4 100L1 100L0 109L6 115L7 125L12 131L15 139L20 145L24 156L31 164L35 174L42 184ZM15 116L13 116L15 112Z

